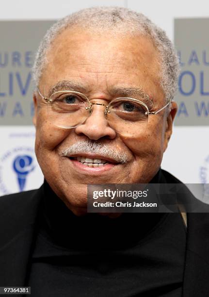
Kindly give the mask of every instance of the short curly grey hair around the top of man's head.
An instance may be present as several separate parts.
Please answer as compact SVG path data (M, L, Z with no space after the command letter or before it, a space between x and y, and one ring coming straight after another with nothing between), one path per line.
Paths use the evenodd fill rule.
M80 27L89 32L110 32L129 36L142 34L153 41L159 52L161 65L161 87L166 99L174 98L177 89L179 63L176 51L166 33L146 16L124 7L92 7L65 16L47 31L36 53L32 68L35 86L39 84L47 65L47 53L55 38L66 28Z

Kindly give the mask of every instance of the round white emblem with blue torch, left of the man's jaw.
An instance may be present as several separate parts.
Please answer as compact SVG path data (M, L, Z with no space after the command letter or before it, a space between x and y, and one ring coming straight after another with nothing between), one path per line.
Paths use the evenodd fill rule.
M31 189L37 169L33 148L6 151L0 156L0 196Z

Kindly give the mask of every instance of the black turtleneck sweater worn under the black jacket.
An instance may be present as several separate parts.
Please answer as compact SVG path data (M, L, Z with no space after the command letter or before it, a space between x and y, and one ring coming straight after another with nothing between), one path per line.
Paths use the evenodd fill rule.
M179 213L77 217L45 181L28 285L32 297L181 297L185 246Z

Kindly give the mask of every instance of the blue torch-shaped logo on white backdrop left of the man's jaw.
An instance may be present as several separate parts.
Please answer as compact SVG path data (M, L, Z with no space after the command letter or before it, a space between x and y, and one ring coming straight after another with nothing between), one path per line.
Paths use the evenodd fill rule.
M16 172L20 191L24 190L27 176L35 168L32 161L33 159L29 155L17 155L13 162L13 169Z

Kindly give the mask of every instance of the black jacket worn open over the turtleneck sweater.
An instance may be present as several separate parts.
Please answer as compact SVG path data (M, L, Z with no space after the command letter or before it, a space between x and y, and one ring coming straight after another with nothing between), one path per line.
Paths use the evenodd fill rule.
M180 183L161 170L161 183ZM43 185L0 197L0 286L25 286ZM209 296L209 213L187 214L182 297Z

